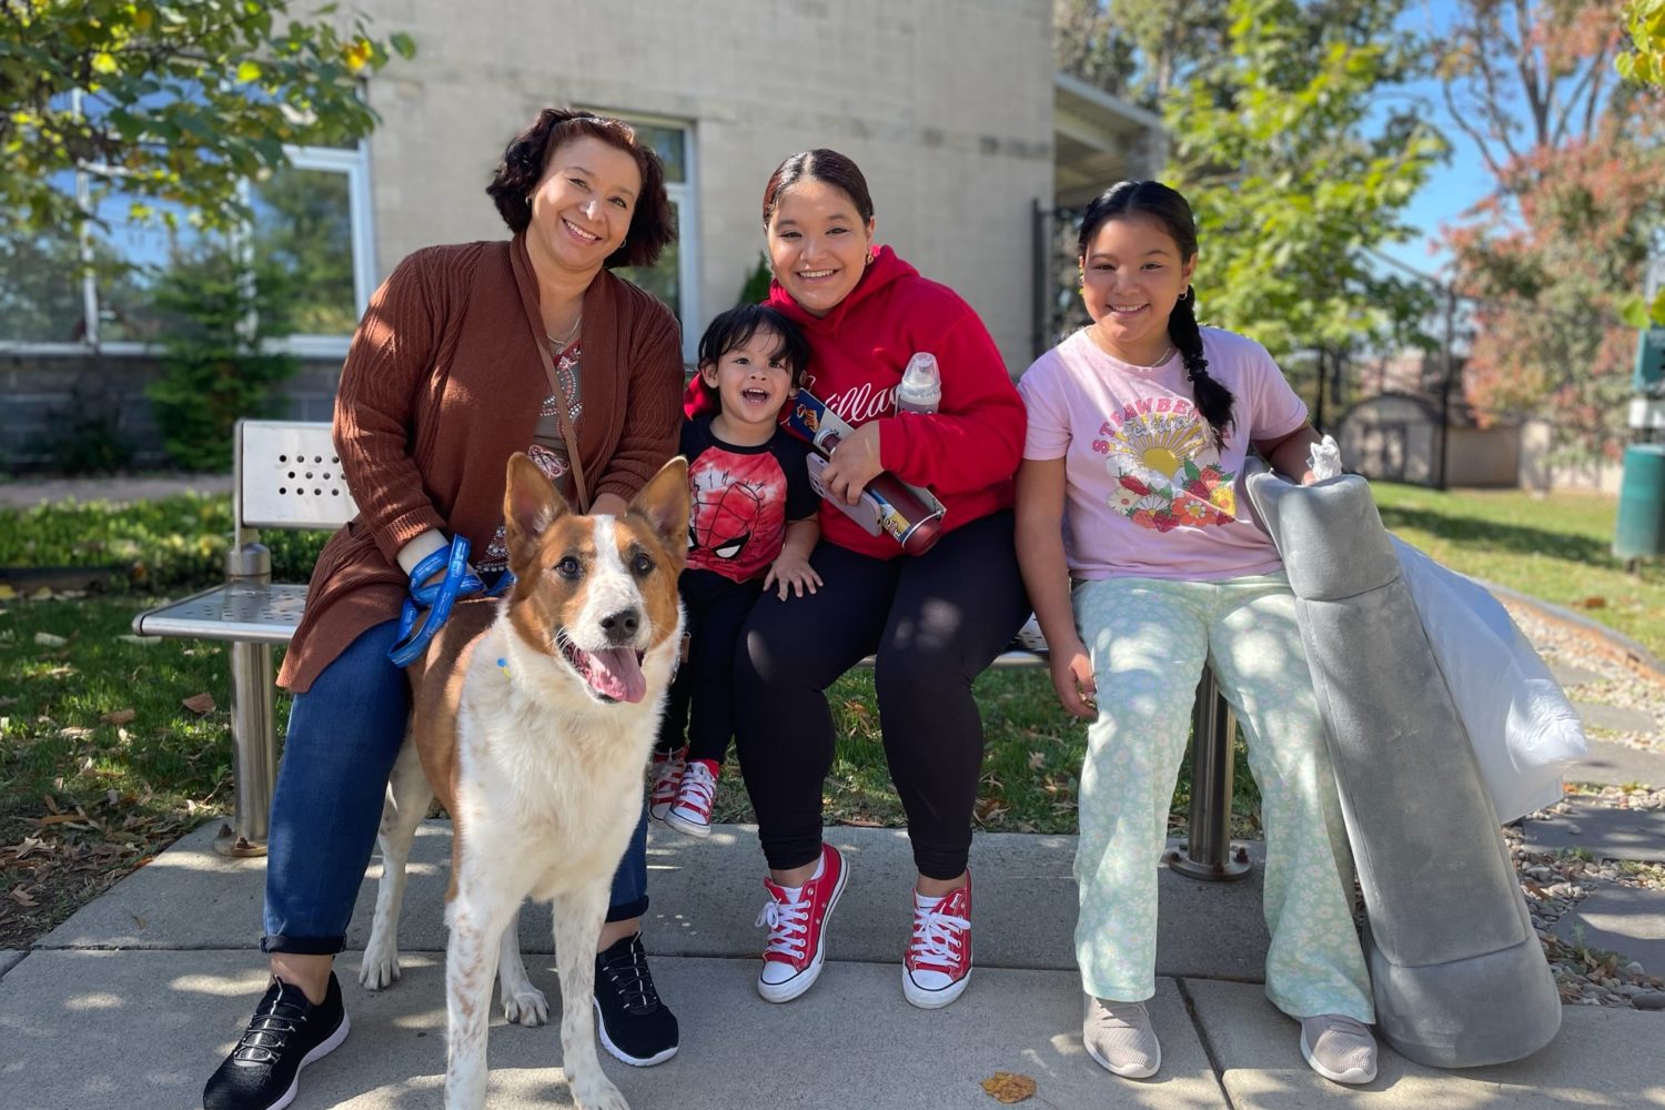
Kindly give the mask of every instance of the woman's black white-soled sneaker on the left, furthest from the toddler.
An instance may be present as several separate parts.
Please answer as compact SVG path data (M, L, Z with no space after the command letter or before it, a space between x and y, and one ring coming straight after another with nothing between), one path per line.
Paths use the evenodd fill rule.
M300 987L273 977L243 1038L208 1077L203 1110L278 1110L295 1102L300 1072L346 1040L341 984L330 972L330 990L313 1005Z

